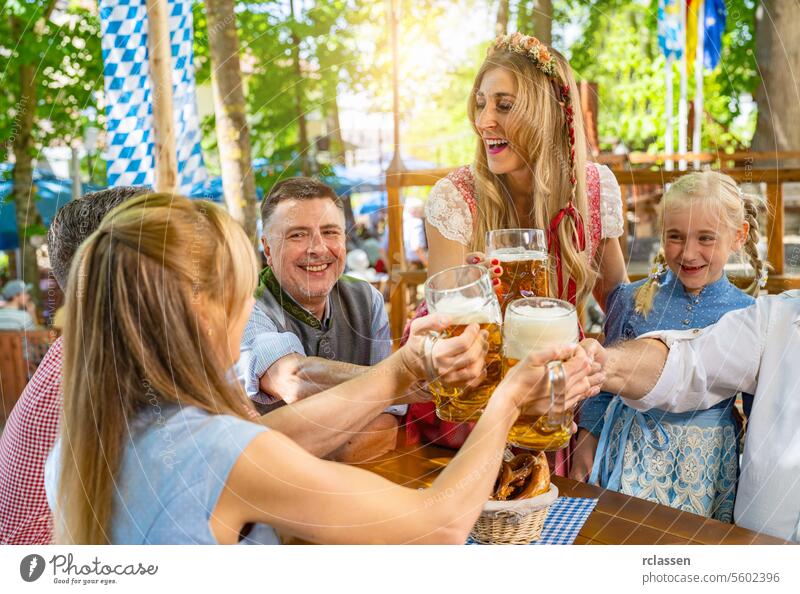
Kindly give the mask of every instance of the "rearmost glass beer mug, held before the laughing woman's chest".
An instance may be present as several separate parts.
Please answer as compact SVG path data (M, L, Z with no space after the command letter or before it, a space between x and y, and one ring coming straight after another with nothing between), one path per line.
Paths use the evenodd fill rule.
M488 258L500 260L500 304L550 295L547 238L541 229L495 229L486 234Z

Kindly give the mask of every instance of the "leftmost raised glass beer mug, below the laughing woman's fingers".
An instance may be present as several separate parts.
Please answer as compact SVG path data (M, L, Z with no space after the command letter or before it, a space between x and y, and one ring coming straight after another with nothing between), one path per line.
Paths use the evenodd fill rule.
M469 324L489 333L486 378L475 388L451 388L439 381L430 384L436 415L445 421L474 421L500 383L502 314L488 272L482 266L456 266L434 274L425 283L428 311L450 318L444 336L458 336Z

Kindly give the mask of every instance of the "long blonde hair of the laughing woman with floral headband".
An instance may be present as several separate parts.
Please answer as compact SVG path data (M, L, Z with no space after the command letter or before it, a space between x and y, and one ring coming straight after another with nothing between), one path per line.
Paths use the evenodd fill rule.
M577 108L580 105L578 89L569 62L557 51L548 49L555 57L558 78L562 84L569 86L572 98L575 131L575 208L583 219L584 236L588 237L585 228L588 221L586 137L583 118L580 109ZM570 143L564 106L559 101L560 94L554 86L557 84L556 81L545 75L525 56L491 46L475 77L467 106L472 127L478 134L474 175L479 202L472 236L472 249L475 251L485 250L487 231L519 226L505 184L505 176L495 175L489 170L486 149L475 126L476 93L486 73L495 68L507 70L514 78L517 87L517 99L510 114L511 129L507 127L506 134L514 150L533 173L530 219L534 226L548 229L550 220L559 210L567 206L571 198ZM563 294L558 297L566 298L567 279L572 278L577 285L577 301L580 303L592 290L596 274L591 268L586 250L578 251L575 247L573 242L575 233L572 219L564 217L558 227L558 237L564 260L562 266L565 280ZM550 285L557 286L555 282L551 282Z

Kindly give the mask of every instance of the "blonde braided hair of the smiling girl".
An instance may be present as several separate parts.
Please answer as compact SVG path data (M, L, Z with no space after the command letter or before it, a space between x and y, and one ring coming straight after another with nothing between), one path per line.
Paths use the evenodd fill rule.
M702 171L689 173L676 179L661 201L662 209L659 227L661 227L661 245L655 258L655 267L665 267L664 257L664 218L668 209L685 207L716 208L720 213L722 224L732 232L742 228L743 223L750 227L745 243L742 246L744 255L754 271L753 282L747 287L746 292L757 295L760 289L762 274L768 264L761 260L758 254L758 213L765 208L765 202L760 196L745 194L736 185L729 175L718 171ZM741 256L742 254L740 254ZM653 300L658 293L658 275L653 274L634 293L635 311L645 318L653 309Z

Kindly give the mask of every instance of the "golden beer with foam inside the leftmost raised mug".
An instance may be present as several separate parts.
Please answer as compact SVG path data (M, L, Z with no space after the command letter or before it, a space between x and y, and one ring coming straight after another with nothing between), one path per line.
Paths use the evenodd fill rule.
M452 324L442 333L444 338L459 336L470 324L478 324L489 333L489 352L486 355L486 377L474 388L450 388L439 381L430 385L436 416L445 421L474 421L480 416L489 397L500 383L502 362L500 347L500 308L495 299L449 295L437 301L435 313L447 315Z

